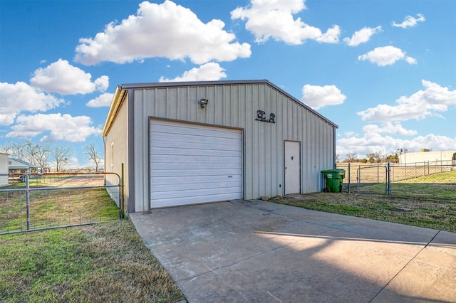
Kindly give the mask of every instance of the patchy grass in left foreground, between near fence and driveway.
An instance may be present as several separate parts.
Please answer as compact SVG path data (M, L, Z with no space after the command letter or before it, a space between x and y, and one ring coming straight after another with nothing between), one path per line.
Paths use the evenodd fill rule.
M132 223L0 235L0 302L185 299Z

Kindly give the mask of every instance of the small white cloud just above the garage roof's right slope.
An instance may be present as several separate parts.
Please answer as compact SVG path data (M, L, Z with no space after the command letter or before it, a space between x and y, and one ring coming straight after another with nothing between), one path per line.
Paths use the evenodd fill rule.
M302 87L301 101L314 110L318 110L326 105L339 105L346 100L346 95L343 95L336 85L309 85Z

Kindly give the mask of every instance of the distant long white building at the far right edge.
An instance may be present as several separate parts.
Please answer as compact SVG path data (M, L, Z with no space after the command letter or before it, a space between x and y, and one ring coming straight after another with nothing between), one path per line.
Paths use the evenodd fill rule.
M456 165L456 151L420 149L418 152L403 152L399 155L399 164Z

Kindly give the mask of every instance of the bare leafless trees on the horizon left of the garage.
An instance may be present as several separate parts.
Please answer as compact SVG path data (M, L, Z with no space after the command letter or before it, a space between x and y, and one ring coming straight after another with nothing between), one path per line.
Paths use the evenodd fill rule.
M48 168L51 161L56 164L56 171L61 171L61 167L68 164L68 157L73 155L73 149L71 147L66 147L61 144L51 145L33 143L30 139L19 142L9 142L0 146L0 149L16 159L39 166L41 172ZM88 161L93 162L93 164L95 164L95 171L98 171L101 157L95 148L95 144L90 143L86 145L84 149Z

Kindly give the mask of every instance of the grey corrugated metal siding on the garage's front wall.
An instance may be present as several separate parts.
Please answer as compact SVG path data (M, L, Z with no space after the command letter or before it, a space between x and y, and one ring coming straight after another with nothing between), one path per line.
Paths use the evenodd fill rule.
M284 188L284 140L301 142L301 191L320 191L333 168L333 125L266 83L135 89L135 211L149 208L150 117L244 129L244 198L277 196ZM209 100L205 109L200 98ZM257 110L276 123L255 121ZM138 184L140 182L140 184Z

